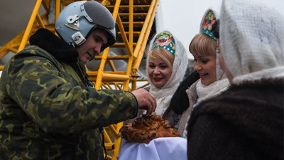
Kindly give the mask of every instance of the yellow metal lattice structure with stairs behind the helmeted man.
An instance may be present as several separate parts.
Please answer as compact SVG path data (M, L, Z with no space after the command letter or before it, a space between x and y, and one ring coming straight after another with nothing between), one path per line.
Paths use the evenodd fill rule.
M0 48L0 59L10 52L18 53L28 46L28 38L38 28L47 28L55 32L55 21L60 11L73 1L76 0L37 0L26 29ZM106 6L114 16L119 28L119 38L114 46L104 50L102 55L96 56L97 67L89 69L86 66L89 80L94 83L97 90L136 90L136 82L139 77L137 72L151 33L158 0L97 1ZM38 11L41 5L45 9L45 14L40 16ZM53 14L53 21L49 19L50 14ZM117 70L116 60L126 62L126 67L123 70ZM107 65L108 70L106 70ZM4 66L0 66L0 71L3 68ZM119 154L121 138L118 137L118 134L122 125L123 122L119 122L104 127L104 141L108 159L116 159Z

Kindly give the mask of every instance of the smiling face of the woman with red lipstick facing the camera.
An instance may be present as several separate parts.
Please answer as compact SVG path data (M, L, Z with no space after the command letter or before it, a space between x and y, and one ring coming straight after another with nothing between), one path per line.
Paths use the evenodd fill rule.
M149 58L148 75L155 87L162 88L170 80L173 68L160 58Z

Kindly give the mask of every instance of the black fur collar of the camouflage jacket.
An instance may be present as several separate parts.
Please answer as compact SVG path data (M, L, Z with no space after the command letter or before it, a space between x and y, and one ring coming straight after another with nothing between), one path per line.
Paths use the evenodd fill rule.
M56 60L65 63L77 62L78 52L48 29L40 28L30 38L31 45L48 51Z

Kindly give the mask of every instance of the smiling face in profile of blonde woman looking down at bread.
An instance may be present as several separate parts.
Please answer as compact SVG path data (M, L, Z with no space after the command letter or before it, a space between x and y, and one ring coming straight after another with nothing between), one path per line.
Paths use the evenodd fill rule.
M195 70L200 74L202 85L210 85L216 78L216 55L193 55L195 57Z

